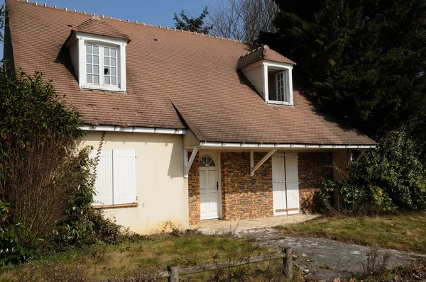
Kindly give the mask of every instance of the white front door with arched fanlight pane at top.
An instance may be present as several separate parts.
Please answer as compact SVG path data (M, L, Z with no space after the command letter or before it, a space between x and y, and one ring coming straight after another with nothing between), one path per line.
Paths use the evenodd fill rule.
M217 154L200 154L201 220L219 218L219 167Z

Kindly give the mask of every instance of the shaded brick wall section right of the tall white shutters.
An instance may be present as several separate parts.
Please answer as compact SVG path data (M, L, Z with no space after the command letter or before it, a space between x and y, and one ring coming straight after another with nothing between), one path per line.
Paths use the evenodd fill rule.
M323 179L333 179L332 153L298 153L300 210L309 213L313 209L315 193Z

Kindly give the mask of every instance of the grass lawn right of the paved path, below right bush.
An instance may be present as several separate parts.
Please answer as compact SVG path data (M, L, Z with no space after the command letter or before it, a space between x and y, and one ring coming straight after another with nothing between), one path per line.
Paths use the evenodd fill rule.
M342 242L426 253L426 213L320 218L283 225L279 229L286 235L315 235Z

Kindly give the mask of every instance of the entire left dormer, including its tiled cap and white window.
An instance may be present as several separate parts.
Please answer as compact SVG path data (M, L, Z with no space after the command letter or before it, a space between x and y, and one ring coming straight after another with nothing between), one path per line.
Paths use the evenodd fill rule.
M129 41L127 35L97 16L73 28L67 46L80 88L126 91Z

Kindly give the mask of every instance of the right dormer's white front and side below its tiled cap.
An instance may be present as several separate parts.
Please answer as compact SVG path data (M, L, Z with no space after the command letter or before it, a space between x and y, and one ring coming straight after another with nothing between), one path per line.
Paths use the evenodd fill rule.
M261 60L242 68L241 72L266 103L294 106L292 70L293 64Z

